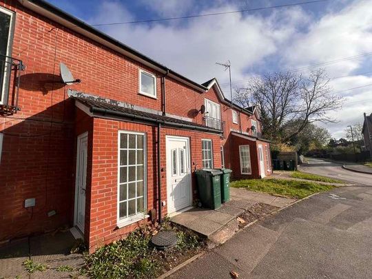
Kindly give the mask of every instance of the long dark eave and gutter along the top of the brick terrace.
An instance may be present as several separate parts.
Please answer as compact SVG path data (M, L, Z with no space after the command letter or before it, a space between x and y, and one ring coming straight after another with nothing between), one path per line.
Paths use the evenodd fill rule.
M135 56L151 63L152 65L155 65L158 68L163 69L166 72L169 72L171 74L174 74L174 76L178 76L178 78L183 79L184 81L187 81L188 83L192 83L196 87L199 87L201 90L207 90L205 86L200 85L199 83L196 83L195 81L192 81L191 79L188 79L186 76L183 76L181 74L178 74L177 72L174 72L174 70L171 70L167 68L165 65L158 63L157 61L154 61L154 59L149 58L148 56L145 56L145 54L142 54L141 52L138 52L137 50L134 50L133 48L130 48L128 45L125 45L124 43L121 43L121 41L118 41L114 39L113 37L110 37L109 35L105 34L104 32L101 32L100 30L92 27L91 25L85 23L84 21L81 21L80 19L72 16L68 12L65 12L64 10L61 10L60 8L57 8L56 6L48 3L44 0L28 0L30 3L33 3L37 6L40 6L44 8L45 10L48 10L49 12L52 12L53 14L56 14L56 16L61 17L65 19L66 21L70 21L72 23L72 27L74 25L78 26L79 28L83 28L84 30L87 30L88 32L94 34L97 37L100 37L101 39L112 43L118 48L122 48L123 50L130 52L131 54L134 54Z

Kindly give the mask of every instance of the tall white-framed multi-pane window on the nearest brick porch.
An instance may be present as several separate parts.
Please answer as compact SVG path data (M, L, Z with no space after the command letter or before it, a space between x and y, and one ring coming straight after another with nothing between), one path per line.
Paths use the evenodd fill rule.
M146 137L119 132L118 223L143 217L146 208Z

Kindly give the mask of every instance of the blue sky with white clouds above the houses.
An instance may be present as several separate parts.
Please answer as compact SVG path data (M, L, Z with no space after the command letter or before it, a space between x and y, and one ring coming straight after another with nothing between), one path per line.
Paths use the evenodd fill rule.
M48 1L87 23L101 24L307 0ZM329 113L337 123L318 123L335 138L345 136L347 125L362 123L363 112L372 112L372 0L329 0L256 12L96 28L198 83L216 77L227 97L229 74L216 62L230 61L234 88L249 87L252 76L298 68L305 68L298 72L306 76L311 70L324 68L331 78L331 89L344 98L342 108Z

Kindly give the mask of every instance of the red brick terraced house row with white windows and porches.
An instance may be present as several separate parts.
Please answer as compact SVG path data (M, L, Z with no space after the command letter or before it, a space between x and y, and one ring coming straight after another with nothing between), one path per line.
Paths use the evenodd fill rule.
M0 61L0 241L70 225L94 251L192 207L196 169L271 174L258 108L45 1L0 1Z

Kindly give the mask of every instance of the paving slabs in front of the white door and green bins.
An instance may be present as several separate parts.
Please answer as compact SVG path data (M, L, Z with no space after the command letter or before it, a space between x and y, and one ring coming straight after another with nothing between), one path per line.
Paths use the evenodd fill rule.
M230 188L230 200L218 209L193 208L171 218L172 222L183 225L198 234L201 234L215 242L221 243L227 240L226 234L218 234L227 229L231 236L231 228L238 227L236 217L257 203L285 207L296 202L296 199L271 196L265 193L252 192L247 189ZM230 228L227 228L229 226ZM232 229L234 233L235 229ZM221 236L223 236L221 238Z

